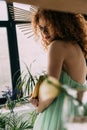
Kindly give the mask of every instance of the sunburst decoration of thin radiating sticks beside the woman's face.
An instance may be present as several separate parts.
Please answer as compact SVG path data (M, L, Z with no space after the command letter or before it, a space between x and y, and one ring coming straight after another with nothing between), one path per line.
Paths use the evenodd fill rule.
M31 21L32 21L32 13L36 10L36 7L29 6L28 10L23 9L21 6L16 7L15 5L9 5L8 7L12 20L16 22L17 21L23 22L17 25L18 29L21 30L21 32L27 38L34 36Z

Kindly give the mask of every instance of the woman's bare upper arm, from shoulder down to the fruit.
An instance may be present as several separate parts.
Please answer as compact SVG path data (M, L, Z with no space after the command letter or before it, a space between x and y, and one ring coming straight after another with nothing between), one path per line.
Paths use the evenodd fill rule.
M59 80L65 56L65 49L62 42L52 42L52 45L49 47L48 51L47 74L49 76L55 77L57 80Z

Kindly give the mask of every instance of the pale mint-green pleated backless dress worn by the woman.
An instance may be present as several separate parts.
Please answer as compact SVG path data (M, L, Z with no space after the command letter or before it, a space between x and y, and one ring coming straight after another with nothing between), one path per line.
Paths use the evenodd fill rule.
M71 88L87 89L87 85L81 85L64 71L60 76L60 82ZM61 93L52 104L45 109L42 113L39 113L34 123L33 130L63 130L63 104L65 93Z

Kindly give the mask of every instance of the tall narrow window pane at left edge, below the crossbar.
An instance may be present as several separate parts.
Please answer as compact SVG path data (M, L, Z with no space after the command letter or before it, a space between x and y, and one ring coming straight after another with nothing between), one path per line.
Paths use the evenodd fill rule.
M0 98L2 91L12 88L6 28L0 28Z

